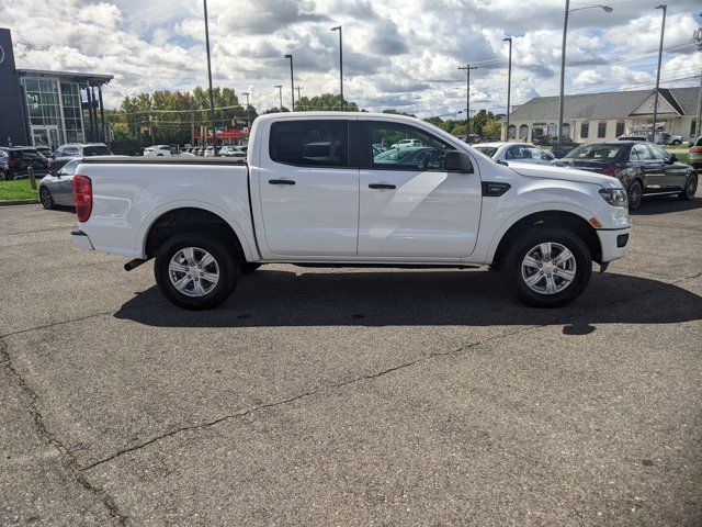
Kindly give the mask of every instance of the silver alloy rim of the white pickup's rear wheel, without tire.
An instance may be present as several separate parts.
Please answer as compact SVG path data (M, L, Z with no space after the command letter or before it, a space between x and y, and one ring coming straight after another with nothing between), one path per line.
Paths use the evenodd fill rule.
M184 247L171 258L168 277L173 288L185 296L204 296L217 287L219 266L205 249Z

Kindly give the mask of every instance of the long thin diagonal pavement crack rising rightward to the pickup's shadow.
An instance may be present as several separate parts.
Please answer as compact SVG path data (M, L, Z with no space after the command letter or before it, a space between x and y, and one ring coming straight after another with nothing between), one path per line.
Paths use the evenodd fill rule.
M692 274L690 277L680 278L680 279L675 280L673 282L670 282L670 283L679 283L679 282L687 281L687 280L693 280L693 279L697 279L697 278L700 278L700 277L702 277L702 272L698 272L698 273ZM652 294L654 292L655 292L655 289L652 289L652 290L648 290L648 291L644 291L644 292L642 292L639 294L634 293L634 294L632 294L631 296L627 296L627 298L618 298L618 299L612 300L609 303L600 304L597 307L597 310L601 310L603 306L611 306L611 305L615 305L615 304L619 304L619 303L629 302L633 298L644 298L644 296L647 296L647 295L649 295L649 294ZM576 311L576 313L574 313L574 315L573 315L573 318L574 319L580 318L580 317L582 317L585 315L588 315L592 311L596 311L596 309L585 309L585 310ZM376 373L361 375L361 377L358 377L358 378L354 378L354 379L350 379L348 381L343 381L343 382L336 383L336 384L324 385L324 386L320 386L320 388L318 388L316 390L312 390L312 391L308 391L308 392L304 392L304 393L297 394L297 395L295 395L293 397L288 397L288 399L285 399L285 400L262 404L262 405L259 405L259 406L254 406L254 407L248 408L248 410L242 411L242 412L237 412L237 413L234 413L234 414L228 414L228 415L225 415L225 416L220 416L220 417L217 417L216 419L210 421L207 423L202 423L202 424L199 424L199 425L189 425L189 426L183 426L183 427L180 427L180 428L176 428L173 430L167 431L167 433L161 434L159 436L152 437L151 439L149 439L147 441L144 441L141 444L134 445L134 446L124 448L122 450L118 450L117 452L113 453L112 456L109 456L109 457L106 457L104 459L94 461L94 462L92 462L90 464L87 464L87 466L82 467L81 470L94 469L95 467L99 467L99 466L101 466L101 464L103 464L103 463L105 463L107 461L111 461L111 460L113 460L115 458L118 458L120 456L123 456L125 453L129 453L129 452L139 450L139 449L145 448L145 447L147 447L149 445L158 442L161 439L165 439L165 438L168 438L168 437L172 437L172 436L176 436L176 435L184 433L184 431L207 428L207 427L215 426L215 425L217 425L219 423L223 423L225 421L228 421L228 419L239 418L239 417L244 417L246 415L249 415L249 414L252 414L252 413L256 413L256 412L260 412L260 411L264 411L264 410L268 410L268 408L271 408L271 407L290 404L292 402L295 402L295 401L298 401L298 400L302 400L302 399L306 399L306 397L309 397L309 396L313 396L313 395L316 395L316 394L319 394L319 393L329 392L329 391L332 391L332 390L338 390L339 388L344 388L344 386L348 386L350 384L354 384L354 383L362 382L362 381L365 381L365 380L377 379L377 378L381 378L381 377L386 375L388 373L393 373L393 372L396 372L396 371L399 371L399 370L404 370L406 368L410 368L412 366L416 366L416 365L419 365L419 363L423 363L423 362L427 362L427 361L435 359L435 358L446 357L446 356L454 356L454 355L455 356L462 355L463 352L465 352L465 351L467 351L469 349L483 346L484 344L487 344L487 343L490 343L490 341L494 341L494 340L498 340L498 339L507 338L507 337L512 337L514 335L519 335L519 334L522 334L522 333L528 333L528 332L541 329L541 328L544 328L544 327L548 327L548 326L553 325L556 321L557 321L557 315L554 315L554 317L551 321L548 321L546 323L543 323L543 324L521 327L521 328L514 329L512 332L502 333L502 334L499 334L499 335L495 335L492 337L485 338L483 340L478 340L478 341L475 341L475 343L469 343L469 344L466 344L466 345L462 345L462 346L460 346L457 348L453 348L453 349L450 349L450 350L446 350L446 351L434 351L434 352L431 352L431 354L422 355L422 356L417 357L414 360L410 360L410 361L407 361L407 362L404 362L404 363L400 363L400 365L396 365L396 366L394 366L392 368L387 368L387 369L382 370L382 371L376 372Z

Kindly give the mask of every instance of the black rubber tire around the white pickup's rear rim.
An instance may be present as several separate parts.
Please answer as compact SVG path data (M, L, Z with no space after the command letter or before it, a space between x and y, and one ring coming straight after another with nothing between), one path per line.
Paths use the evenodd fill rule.
M179 291L171 282L171 271L169 270L171 258L186 247L210 253L216 262L219 280L211 291L202 296L190 296ZM163 295L173 304L186 310L208 310L224 302L236 288L239 273L240 264L225 245L211 235L200 233L181 234L168 239L159 249L154 265L156 283ZM190 292L192 293L192 291Z

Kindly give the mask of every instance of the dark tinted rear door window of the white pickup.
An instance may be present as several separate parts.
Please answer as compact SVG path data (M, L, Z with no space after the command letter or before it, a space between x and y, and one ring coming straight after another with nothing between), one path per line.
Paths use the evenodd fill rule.
M271 159L298 167L348 167L346 120L279 121L271 125Z

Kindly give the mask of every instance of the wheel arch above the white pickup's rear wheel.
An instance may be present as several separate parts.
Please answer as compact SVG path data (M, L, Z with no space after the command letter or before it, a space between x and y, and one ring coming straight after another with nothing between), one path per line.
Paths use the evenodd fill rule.
M203 206L181 205L155 213L148 227L140 236L140 249L145 258L152 258L168 237L180 234L184 228L216 233L227 247L242 261L250 261L251 254L241 231L225 220L223 214Z

